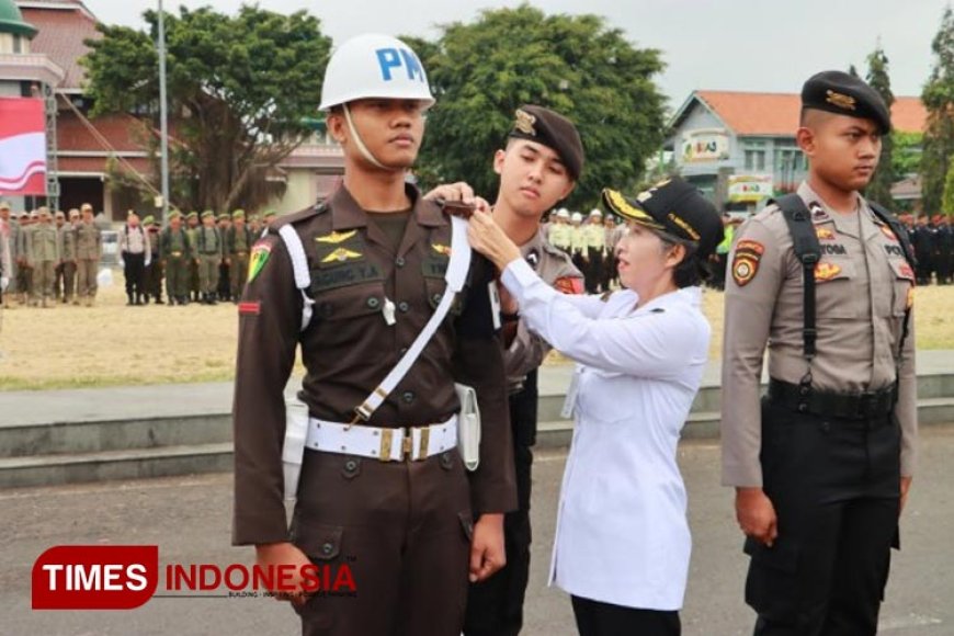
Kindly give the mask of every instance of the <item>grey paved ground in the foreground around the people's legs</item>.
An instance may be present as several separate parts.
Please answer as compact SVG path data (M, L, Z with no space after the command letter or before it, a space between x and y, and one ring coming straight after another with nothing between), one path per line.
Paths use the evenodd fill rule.
M902 522L905 550L895 557L882 632L890 636L954 635L954 428L924 432L922 464ZM566 595L545 587L555 503L565 453L538 456L534 492L534 567L529 591L530 636L575 634ZM746 558L718 487L718 447L683 445L694 535L683 612L686 636L750 633L742 604ZM30 570L58 544L158 544L160 561L229 564L250 560L229 546L229 475L8 490L0 492L0 634L100 636L296 634L291 610L264 599L154 599L129 612L32 612Z

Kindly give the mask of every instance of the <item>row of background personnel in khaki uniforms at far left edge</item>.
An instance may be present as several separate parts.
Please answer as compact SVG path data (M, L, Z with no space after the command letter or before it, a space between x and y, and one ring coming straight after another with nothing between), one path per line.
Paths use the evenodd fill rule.
M8 255L4 307L14 298L33 307L53 307L58 297L92 305L103 246L91 206L71 209L67 223L63 212L53 215L47 207L12 218L10 205L0 202L0 243Z

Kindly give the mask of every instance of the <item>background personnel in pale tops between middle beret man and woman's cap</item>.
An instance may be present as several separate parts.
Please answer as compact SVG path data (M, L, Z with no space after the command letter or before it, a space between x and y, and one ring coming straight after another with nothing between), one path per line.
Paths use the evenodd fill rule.
M618 286L615 252L625 230L612 216L604 219L599 209L590 212L583 222L579 212L570 214L561 207L543 224L549 243L569 254L583 274L589 294L607 292L611 283Z

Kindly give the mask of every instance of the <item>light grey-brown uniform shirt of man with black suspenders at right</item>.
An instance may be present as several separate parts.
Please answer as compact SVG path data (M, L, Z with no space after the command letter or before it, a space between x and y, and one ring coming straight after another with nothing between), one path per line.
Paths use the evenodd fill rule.
M890 386L900 355L898 404L901 425L901 475L913 474L918 434L913 315L898 352L905 310L912 302L913 272L890 228L859 196L859 213L831 211L807 184L798 195L811 207L821 246L816 269L818 353L811 363L813 387L856 394ZM742 241L762 249L756 273L739 284L732 261ZM753 243L757 243L753 245ZM802 263L795 257L785 218L770 206L737 231L726 276L723 349L723 484L762 485L759 464L761 412L759 381L768 343L769 375L798 384L808 371L802 353ZM749 270L742 271L748 274ZM745 281L745 277L742 279Z

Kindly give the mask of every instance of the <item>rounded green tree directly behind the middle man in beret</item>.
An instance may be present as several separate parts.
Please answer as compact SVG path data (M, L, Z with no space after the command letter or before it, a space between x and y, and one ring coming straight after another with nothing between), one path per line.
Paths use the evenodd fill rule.
M586 164L570 205L595 205L603 186L635 186L661 145L660 53L636 48L599 16L487 10L474 23L444 25L435 44L420 49L438 99L419 161L428 184L466 180L492 197L493 152L525 103L579 128Z

